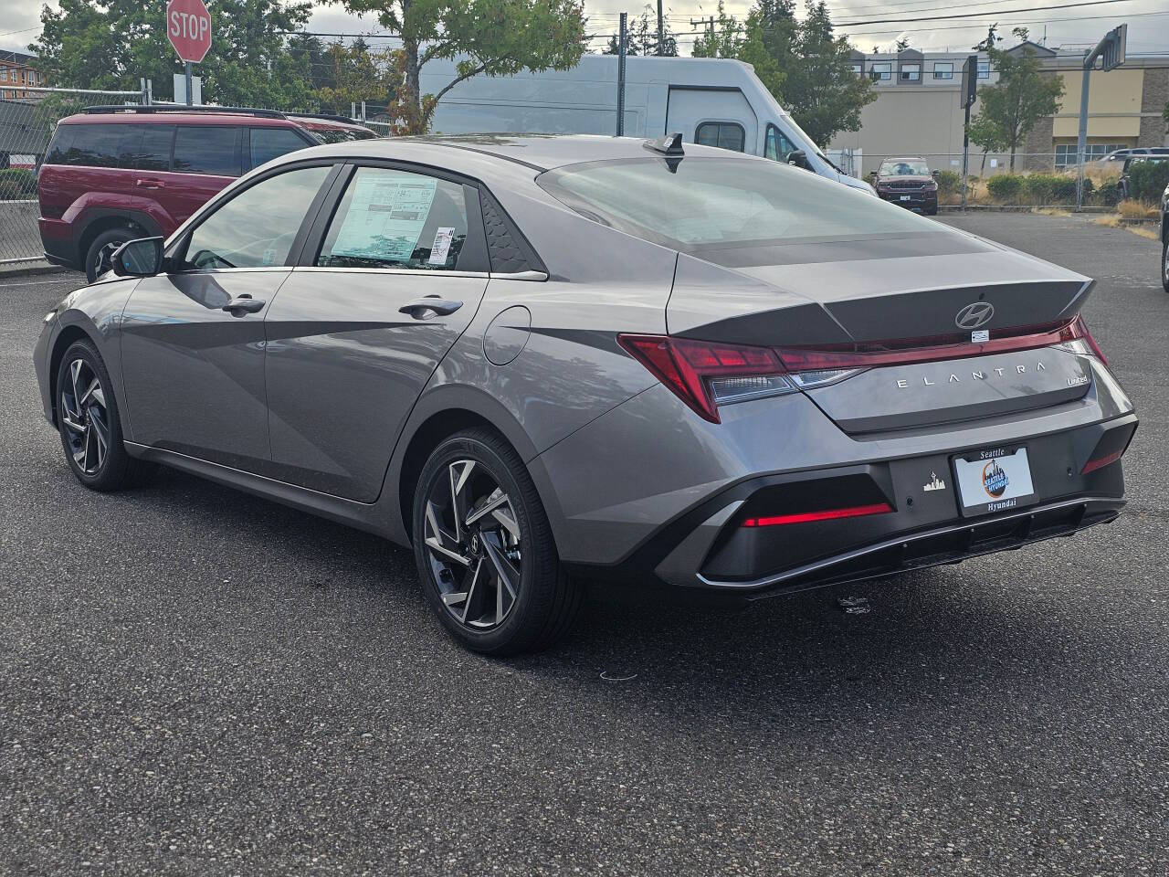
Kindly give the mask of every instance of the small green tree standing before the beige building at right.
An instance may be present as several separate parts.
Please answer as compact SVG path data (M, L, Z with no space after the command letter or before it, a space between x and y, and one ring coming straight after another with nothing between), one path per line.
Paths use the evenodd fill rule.
M990 67L998 72L998 82L978 89L978 115L970 122L970 138L974 139L977 129L982 139L976 143L987 149L1009 150L1010 170L1014 171L1015 153L1035 123L1059 112L1064 81L1059 76L1043 76L1039 61L1030 48L1010 55L995 48L989 37L987 44Z

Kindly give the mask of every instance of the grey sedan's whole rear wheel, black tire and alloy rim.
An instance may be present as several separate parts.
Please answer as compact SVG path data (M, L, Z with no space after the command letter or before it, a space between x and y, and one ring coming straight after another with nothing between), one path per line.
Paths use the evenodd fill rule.
M468 429L435 449L419 478L413 536L427 600L466 648L537 651L575 620L580 583L561 567L527 468L497 434Z

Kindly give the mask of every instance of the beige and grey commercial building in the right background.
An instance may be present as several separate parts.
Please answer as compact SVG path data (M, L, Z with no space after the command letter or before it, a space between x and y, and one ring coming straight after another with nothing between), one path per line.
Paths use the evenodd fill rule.
M1019 145L1015 167L1023 171L1074 166L1079 131L1082 53L1056 51L1033 42L1009 51L1032 51L1044 76L1064 81L1064 98L1054 116L1039 119ZM862 112L859 131L843 131L830 144L845 154L859 153L852 168L857 175L877 170L890 156L921 156L936 170L960 171L963 110L959 105L962 67L973 54L921 53L852 54L852 69L869 76L878 99ZM978 88L992 85L998 74L984 53L978 54ZM1092 72L1088 91L1088 158L1099 158L1126 146L1162 146L1164 108L1169 102L1169 55L1129 56L1125 67ZM977 116L978 103L971 108ZM1009 154L970 144L970 172L998 173L1009 166Z

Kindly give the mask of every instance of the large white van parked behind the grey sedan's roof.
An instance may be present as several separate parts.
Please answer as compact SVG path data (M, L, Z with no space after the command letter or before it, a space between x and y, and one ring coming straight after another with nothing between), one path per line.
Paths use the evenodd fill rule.
M422 68L422 94L437 94L455 77L454 61ZM435 133L614 134L617 57L584 55L570 70L473 76L443 96ZM682 132L686 143L749 152L808 170L873 194L872 187L829 161L788 115L750 64L729 58L625 60L627 137Z

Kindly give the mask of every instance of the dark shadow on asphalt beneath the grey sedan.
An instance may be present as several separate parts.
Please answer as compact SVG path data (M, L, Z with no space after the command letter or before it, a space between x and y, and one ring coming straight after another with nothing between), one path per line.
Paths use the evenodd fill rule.
M393 603L400 617L390 623L409 624L416 634L404 648L429 652L415 657L437 672L470 669L490 678L503 667L560 686L566 698L608 692L644 709L783 713L812 725L884 711L907 720L955 707L997 709L1038 676L1074 691L1087 672L1080 665L1099 663L1091 654L1072 657L1075 634L1065 617L1021 599L1010 573L996 573L985 559L738 608L593 592L563 642L500 662L470 655L444 635L422 599L408 550L178 472L162 474L137 496L155 505L152 517L173 518L177 527L198 518L214 519L223 532L245 529L264 552L279 555L279 572L270 576L279 580L268 588L350 592L327 603L337 613L344 612L338 603L357 598L353 592L367 592L365 603L374 594L378 603ZM340 566L331 560L338 557ZM867 598L871 612L845 614L837 601L846 595ZM1051 600L1056 607L1058 599ZM383 621L362 620L361 634L373 637L374 654L403 648L402 631ZM1099 642L1077 648L1097 649Z

